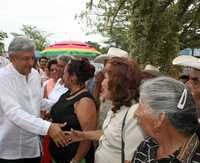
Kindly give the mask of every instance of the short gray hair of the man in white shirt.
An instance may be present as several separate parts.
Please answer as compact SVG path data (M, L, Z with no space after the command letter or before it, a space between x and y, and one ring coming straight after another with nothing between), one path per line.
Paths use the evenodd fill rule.
M30 50L35 50L35 43L26 37L15 37L8 46L9 56L16 52Z

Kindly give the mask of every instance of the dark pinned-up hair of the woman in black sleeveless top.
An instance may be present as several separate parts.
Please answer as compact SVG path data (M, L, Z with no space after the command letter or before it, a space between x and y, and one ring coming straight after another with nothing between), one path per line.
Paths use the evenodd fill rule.
M94 76L95 67L85 59L72 59L67 66L69 75L77 77L77 84L83 85L85 82Z

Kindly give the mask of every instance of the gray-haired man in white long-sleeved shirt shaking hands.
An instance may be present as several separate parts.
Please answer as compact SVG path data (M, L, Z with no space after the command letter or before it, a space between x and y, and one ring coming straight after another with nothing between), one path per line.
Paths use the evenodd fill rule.
M64 124L40 118L40 108L52 103L42 99L34 53L33 41L16 37L8 47L11 64L0 69L1 163L40 163L39 135L49 135L58 146L66 144Z

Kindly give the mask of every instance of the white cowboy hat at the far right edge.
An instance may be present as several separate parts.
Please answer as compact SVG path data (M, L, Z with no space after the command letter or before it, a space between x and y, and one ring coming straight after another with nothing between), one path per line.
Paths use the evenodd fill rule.
M189 55L181 55L174 58L172 64L200 70L200 59Z

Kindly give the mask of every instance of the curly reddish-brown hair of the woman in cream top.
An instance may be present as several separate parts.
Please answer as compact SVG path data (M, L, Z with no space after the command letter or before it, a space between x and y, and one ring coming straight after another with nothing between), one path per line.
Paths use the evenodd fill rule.
M127 58L113 57L106 63L108 89L116 112L122 105L131 106L132 100L138 100L141 71L138 64Z

